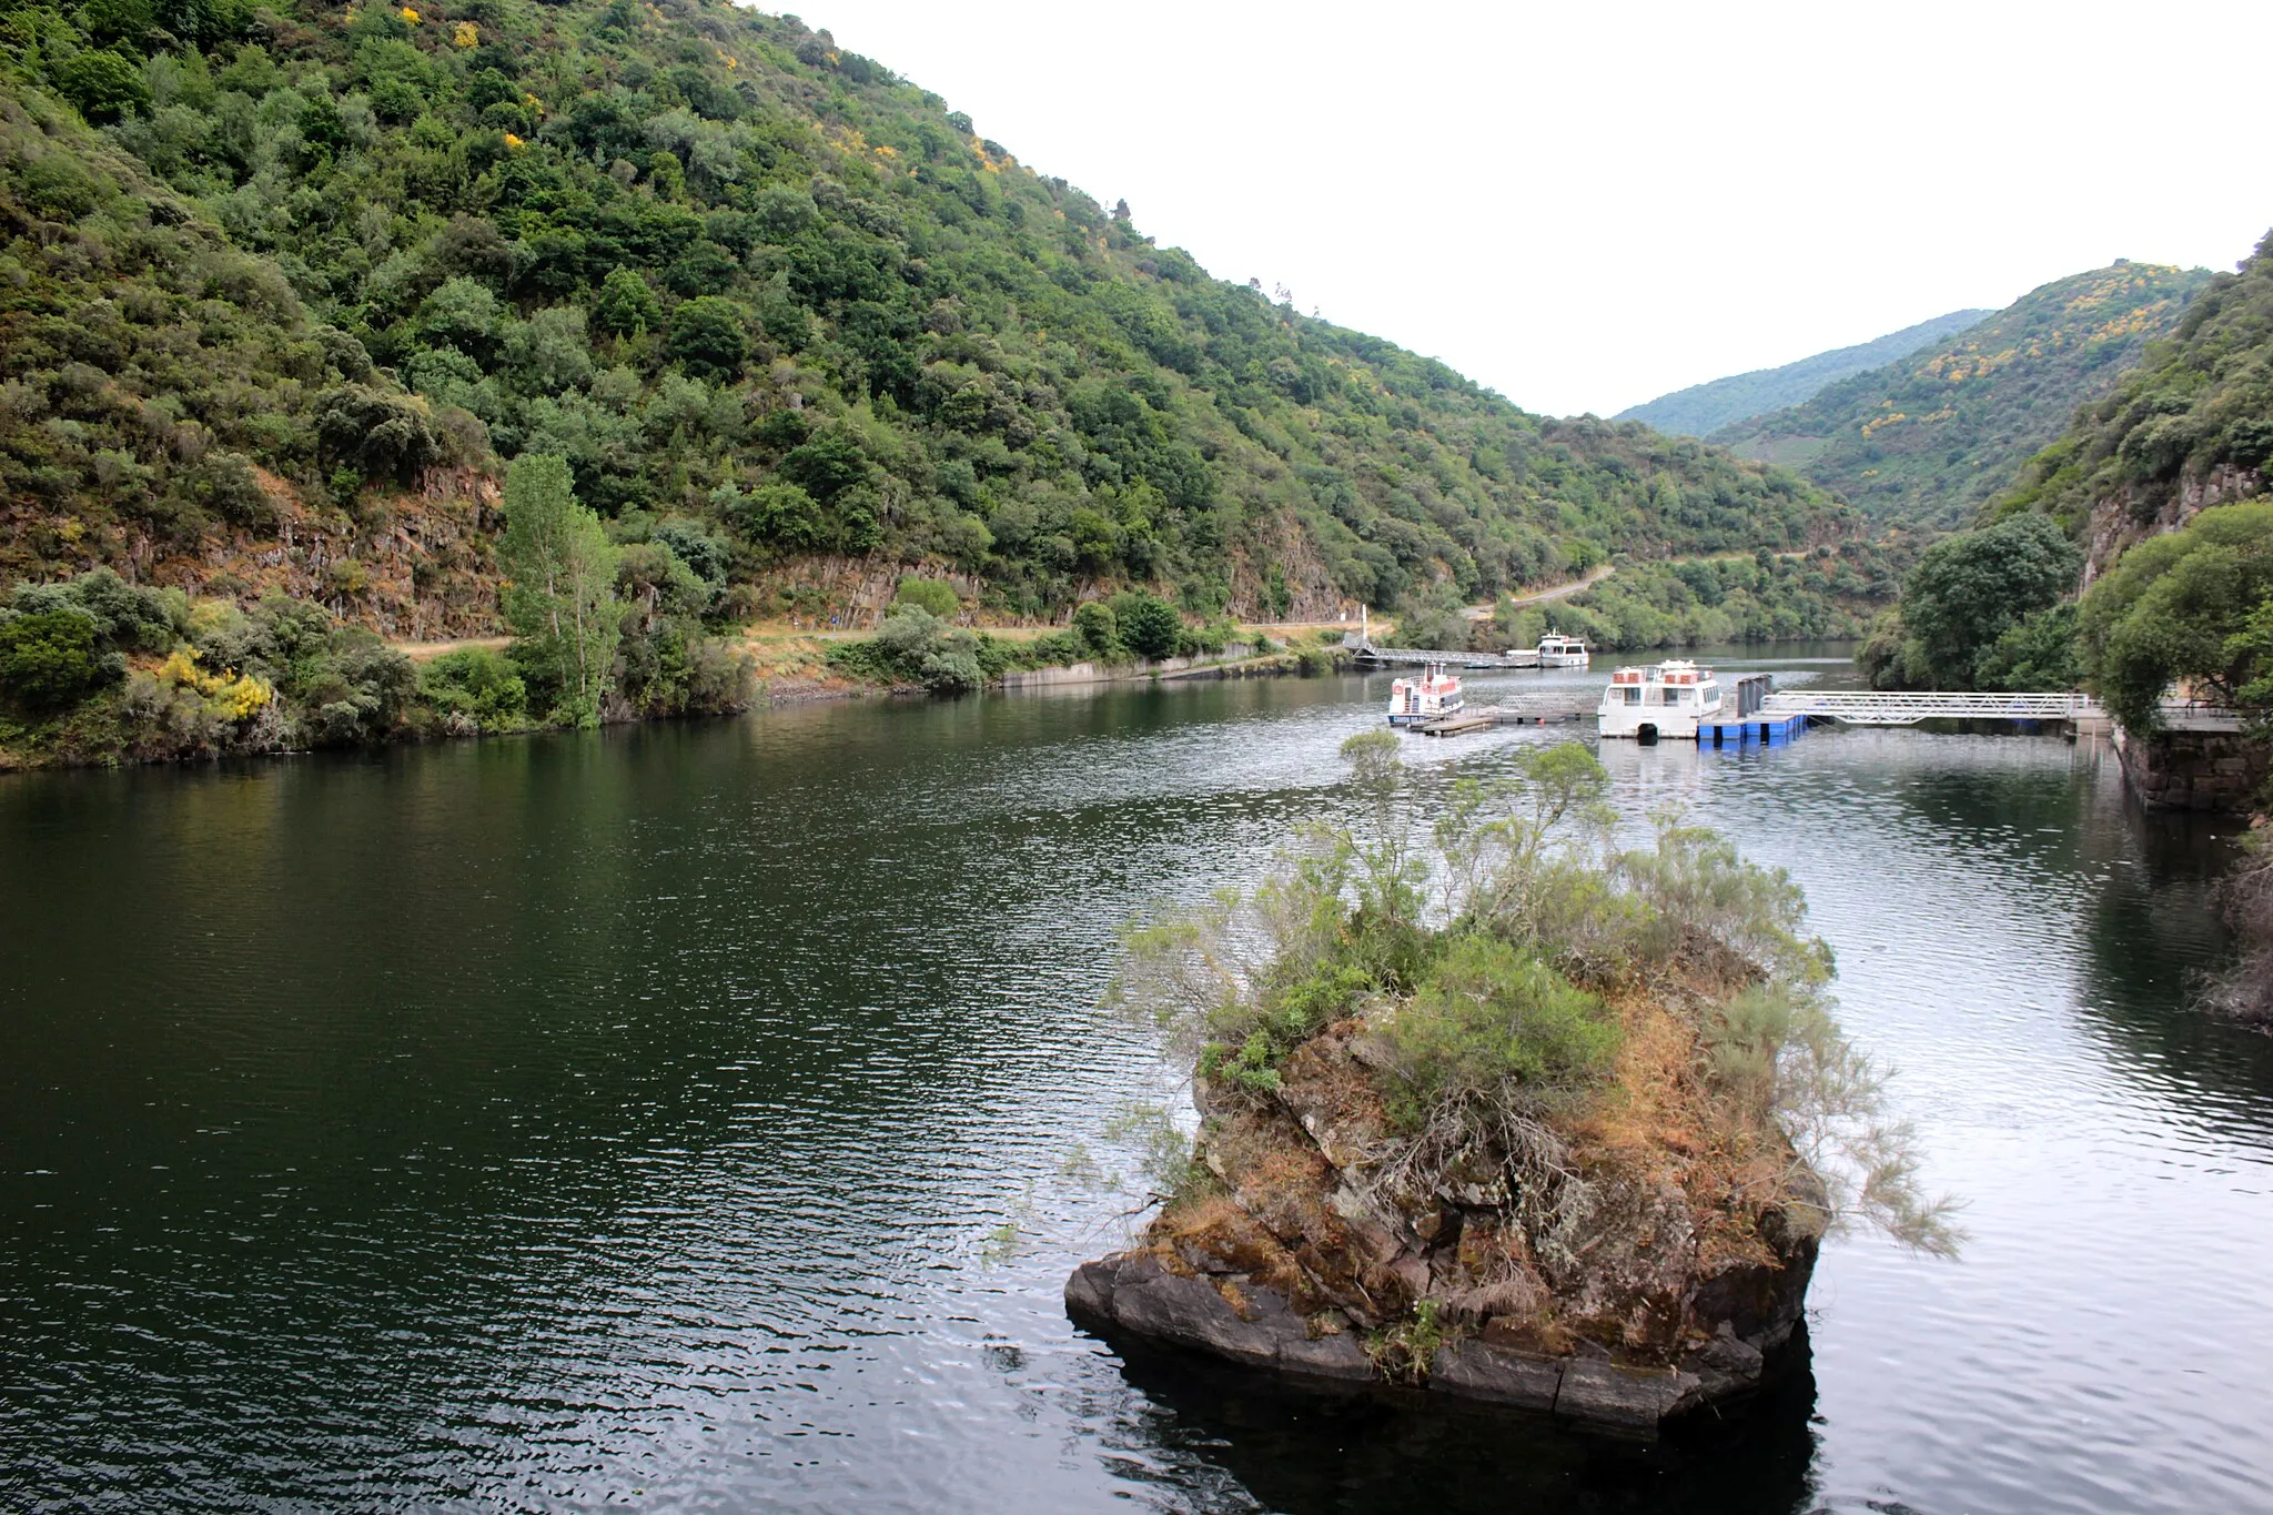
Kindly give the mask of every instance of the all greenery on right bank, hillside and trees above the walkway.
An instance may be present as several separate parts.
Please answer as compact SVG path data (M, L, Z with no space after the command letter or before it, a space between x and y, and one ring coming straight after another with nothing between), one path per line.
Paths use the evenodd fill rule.
M2273 238L2021 468L1989 525L1918 559L1864 668L1884 688L2084 681L2134 731L2171 690L2273 706L2268 457ZM2218 500L2237 504L2200 509Z

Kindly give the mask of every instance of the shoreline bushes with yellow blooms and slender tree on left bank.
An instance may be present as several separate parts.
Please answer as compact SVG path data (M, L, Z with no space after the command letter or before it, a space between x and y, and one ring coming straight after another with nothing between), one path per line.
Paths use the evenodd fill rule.
M320 604L245 609L109 568L18 584L0 604L0 752L182 759L743 709L748 656L705 629L714 543L666 527L614 543L559 459L507 479L507 652L425 668Z

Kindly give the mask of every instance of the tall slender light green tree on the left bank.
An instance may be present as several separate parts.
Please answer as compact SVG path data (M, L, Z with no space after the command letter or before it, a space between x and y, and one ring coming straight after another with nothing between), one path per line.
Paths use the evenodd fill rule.
M559 688L559 713L596 725L623 636L616 550L577 504L568 459L525 452L505 475L505 622Z

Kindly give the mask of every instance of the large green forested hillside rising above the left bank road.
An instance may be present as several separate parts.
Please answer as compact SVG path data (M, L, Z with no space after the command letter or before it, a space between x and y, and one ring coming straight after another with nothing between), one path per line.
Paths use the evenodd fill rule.
M725 0L91 0L0 16L0 584L466 629L523 452L718 618L900 563L1300 613L1850 529L1212 279Z

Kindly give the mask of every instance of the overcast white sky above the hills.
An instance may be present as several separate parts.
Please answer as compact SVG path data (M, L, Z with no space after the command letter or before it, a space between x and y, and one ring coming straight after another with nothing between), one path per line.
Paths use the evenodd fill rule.
M2273 225L2268 0L782 9L1209 273L1546 413Z

